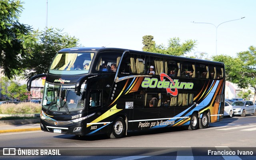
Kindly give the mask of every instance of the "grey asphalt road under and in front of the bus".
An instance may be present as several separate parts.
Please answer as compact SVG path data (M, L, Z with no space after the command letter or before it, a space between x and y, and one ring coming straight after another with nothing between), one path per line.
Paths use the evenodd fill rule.
M136 154L144 152L143 148L154 149L150 152L158 153L160 152L159 148L165 147L166 149L169 148L168 152L171 152L170 147L182 147L185 150L186 148L226 147L227 151L233 147L255 147L255 135L256 116L247 115L246 117L224 118L220 122L210 124L210 127L206 129L191 131L184 128L170 128L150 132L128 132L128 136L121 139L109 139L106 135L79 137L42 131L6 133L0 134L0 147L17 149L24 147L76 147L87 149L98 147L97 150L100 150L100 148L103 148L103 150L106 150L106 148L118 150L121 147L128 148L126 152L129 149L134 150L134 147L136 147L138 148ZM173 149L177 152L176 148L171 148L171 150ZM254 148L254 150L256 149ZM94 152L91 152L91 154ZM113 149L110 152L113 152ZM253 154L255 157L256 151Z

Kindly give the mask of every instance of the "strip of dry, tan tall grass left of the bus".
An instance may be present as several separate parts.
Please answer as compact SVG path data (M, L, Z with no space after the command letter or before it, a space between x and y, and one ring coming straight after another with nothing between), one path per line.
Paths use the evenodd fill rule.
M8 116L0 117L0 120L22 120L32 119L34 115L39 114L41 111L41 105L32 102L23 102L19 104L1 104L0 114L8 114Z

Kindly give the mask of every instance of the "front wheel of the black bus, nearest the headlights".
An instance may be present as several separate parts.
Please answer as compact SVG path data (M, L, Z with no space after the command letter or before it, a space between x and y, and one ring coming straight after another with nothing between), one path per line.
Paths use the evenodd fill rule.
M108 135L109 138L122 138L126 130L126 125L122 117L118 117L112 126L112 131Z

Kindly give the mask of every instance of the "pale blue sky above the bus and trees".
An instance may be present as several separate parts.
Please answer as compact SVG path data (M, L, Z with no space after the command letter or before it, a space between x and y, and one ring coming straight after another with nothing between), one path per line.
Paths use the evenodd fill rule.
M255 0L21 1L21 23L35 30L63 29L85 47L142 50L145 35L166 47L170 38L178 37L180 43L196 40L188 55L205 52L209 58L216 54L235 57L256 46Z

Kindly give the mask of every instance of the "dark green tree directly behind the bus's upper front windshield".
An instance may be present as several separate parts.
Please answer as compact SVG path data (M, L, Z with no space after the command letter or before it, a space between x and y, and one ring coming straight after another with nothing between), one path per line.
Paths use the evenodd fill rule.
M26 78L47 73L52 59L63 48L78 46L78 39L62 33L60 29L46 28L38 33L38 42L31 48L31 58L24 60L27 68L34 72L25 72Z

